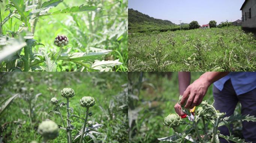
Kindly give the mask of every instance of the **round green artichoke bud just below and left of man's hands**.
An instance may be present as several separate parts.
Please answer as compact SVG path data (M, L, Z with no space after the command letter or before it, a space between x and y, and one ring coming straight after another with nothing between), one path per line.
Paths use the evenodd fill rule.
M168 128L177 127L180 125L182 118L178 114L169 114L164 118L164 125Z

